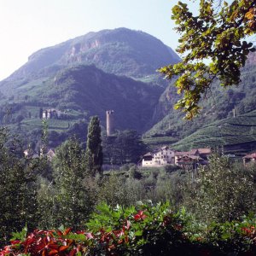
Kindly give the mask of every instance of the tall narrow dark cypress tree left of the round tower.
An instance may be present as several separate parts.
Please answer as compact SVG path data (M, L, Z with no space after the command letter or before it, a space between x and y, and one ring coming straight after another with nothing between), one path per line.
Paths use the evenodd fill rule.
M103 154L101 126L100 119L97 116L93 116L90 119L88 126L85 159L87 170L92 176L102 172Z

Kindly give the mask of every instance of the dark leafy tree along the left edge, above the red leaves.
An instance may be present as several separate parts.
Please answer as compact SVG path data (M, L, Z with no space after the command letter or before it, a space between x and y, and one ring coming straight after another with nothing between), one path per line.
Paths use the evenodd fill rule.
M8 131L0 128L0 240L10 232L20 230L25 224L36 227L37 189L36 166L20 159L20 143L12 140L7 144Z

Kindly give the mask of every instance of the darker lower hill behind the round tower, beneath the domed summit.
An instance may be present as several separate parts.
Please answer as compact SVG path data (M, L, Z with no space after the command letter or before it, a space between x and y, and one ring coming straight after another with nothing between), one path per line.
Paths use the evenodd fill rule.
M75 123L98 115L106 127L106 110L114 110L115 128L146 131L160 86L104 73L94 66L69 67L49 79L26 79L0 106L0 123L11 130L35 132L42 128L40 108L55 108L64 119L49 119L49 131L68 132ZM85 134L85 131L84 131Z

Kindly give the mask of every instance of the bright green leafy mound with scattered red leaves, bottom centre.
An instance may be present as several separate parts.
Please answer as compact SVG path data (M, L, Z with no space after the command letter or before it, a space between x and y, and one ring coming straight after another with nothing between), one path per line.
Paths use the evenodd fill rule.
M177 253L177 248L182 250L181 245L186 243L179 231L183 221L167 203L154 206L149 202L126 208L102 204L96 211L86 225L92 233L102 230L100 237L106 236L106 245L100 247L102 251L111 250L118 255L164 255ZM118 230L122 232L115 238L112 234L118 234Z

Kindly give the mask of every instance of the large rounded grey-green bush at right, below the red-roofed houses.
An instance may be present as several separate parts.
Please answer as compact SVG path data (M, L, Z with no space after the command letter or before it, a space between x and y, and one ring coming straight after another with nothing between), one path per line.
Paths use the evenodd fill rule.
M240 218L254 211L254 200L253 173L216 154L183 185L183 204L207 222Z

